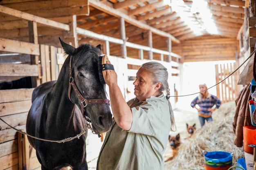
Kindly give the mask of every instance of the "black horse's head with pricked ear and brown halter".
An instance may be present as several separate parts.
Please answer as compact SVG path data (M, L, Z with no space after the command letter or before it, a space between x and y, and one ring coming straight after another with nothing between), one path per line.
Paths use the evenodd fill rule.
M61 39L60 42L70 64L69 71L66 71L66 75L69 74L70 101L81 109L85 119L91 122L95 133L107 132L112 125L112 114L105 86L99 78L98 59L101 55L101 45L94 47L81 44L74 48Z

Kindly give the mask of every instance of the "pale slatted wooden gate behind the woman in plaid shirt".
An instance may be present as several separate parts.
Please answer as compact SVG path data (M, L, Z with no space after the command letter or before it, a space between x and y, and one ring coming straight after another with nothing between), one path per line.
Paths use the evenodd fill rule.
M236 100L236 97L241 89L241 85L237 84L239 73L238 71L234 72L236 68L238 68L237 62L227 62L215 65L217 84L216 92L217 97L222 103Z

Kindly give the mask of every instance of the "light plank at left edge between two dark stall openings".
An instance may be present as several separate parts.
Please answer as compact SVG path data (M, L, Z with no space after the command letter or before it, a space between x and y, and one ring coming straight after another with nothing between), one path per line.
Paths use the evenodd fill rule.
M38 76L38 66L0 63L0 76Z

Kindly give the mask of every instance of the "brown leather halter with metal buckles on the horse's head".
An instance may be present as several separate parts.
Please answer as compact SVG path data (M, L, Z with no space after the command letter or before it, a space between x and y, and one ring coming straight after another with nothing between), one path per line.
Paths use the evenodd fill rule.
M74 91L76 92L76 95L79 97L80 101L81 101L81 109L82 109L82 113L84 113L84 108L88 105L88 104L110 104L110 100L109 99L85 99L83 98L83 95L81 95L79 89L76 86L76 83L74 82L74 78L72 77L72 56L70 56L70 68L69 68L69 86L68 86L68 98L71 100L71 86L74 88ZM74 103L74 102L72 102ZM90 118L88 116L86 116L85 118L87 121L90 122Z

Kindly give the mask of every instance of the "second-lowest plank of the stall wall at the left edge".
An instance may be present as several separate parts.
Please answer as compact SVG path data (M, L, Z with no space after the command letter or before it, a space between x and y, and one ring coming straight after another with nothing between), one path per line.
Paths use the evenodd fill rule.
M14 152L18 152L17 139L0 144L0 157L4 157Z

